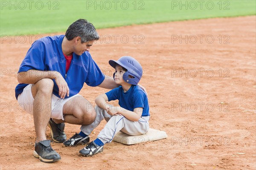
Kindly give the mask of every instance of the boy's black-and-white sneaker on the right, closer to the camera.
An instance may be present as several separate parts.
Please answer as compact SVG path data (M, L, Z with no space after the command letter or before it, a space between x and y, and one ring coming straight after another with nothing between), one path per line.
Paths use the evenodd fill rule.
M90 142L89 144L87 144L86 147L84 147L84 149L81 149L79 153L83 156L93 156L96 153L99 153L102 151L103 151L103 146L98 146L96 143Z

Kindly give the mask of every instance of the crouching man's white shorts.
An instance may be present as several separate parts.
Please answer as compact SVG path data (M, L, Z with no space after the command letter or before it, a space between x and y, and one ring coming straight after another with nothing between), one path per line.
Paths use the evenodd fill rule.
M34 97L33 97L32 92L31 92L31 87L32 87L32 84L27 85L23 89L23 92L18 96L18 103L20 105L20 108L23 111L26 111L27 113L33 115ZM72 97L69 97L67 99L61 99L61 98L55 96L54 94L52 94L52 103L47 104L47 108L44 108L41 103L38 103L35 106L35 109L37 111L43 111L43 109L49 109L49 110L51 109L51 112L52 112L51 118L64 120L64 118L63 118L63 106L67 101L69 101L70 99L72 99L73 97L76 97L76 96L81 96L81 95L76 94L76 95L74 95Z

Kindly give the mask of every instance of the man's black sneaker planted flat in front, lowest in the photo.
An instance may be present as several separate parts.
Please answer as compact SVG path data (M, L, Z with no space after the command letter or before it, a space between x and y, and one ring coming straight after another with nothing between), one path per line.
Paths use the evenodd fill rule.
M33 155L45 163L61 160L61 156L52 149L50 140L44 140L35 144Z

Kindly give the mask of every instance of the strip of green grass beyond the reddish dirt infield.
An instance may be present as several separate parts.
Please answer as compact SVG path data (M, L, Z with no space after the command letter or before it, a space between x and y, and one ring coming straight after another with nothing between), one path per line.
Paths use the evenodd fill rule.
M187 5L180 6L180 0L117 0L116 6L114 0L41 0L30 4L26 0L0 0L0 35L64 32L79 18L89 20L96 28L108 28L256 14L255 0L203 0L202 6L198 0L182 3Z

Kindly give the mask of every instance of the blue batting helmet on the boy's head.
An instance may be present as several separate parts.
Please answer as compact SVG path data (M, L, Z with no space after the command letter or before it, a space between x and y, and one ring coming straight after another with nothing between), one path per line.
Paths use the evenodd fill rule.
M140 63L130 56L123 56L117 61L109 60L108 62L113 68L116 68L116 64L121 65L127 71L123 74L123 79L125 82L131 85L137 85L142 77L143 69ZM129 77L129 75L131 77ZM113 74L115 76L115 73Z

